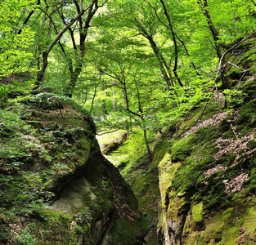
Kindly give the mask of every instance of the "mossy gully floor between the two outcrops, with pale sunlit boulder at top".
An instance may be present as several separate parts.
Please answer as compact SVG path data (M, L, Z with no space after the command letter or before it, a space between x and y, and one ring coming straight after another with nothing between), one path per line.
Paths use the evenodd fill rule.
M101 149L104 150L105 145L111 145L115 140L119 141L117 136L122 137L122 134L124 134L124 132L118 131L110 133L109 135L99 136ZM131 185L132 191L137 197L139 211L142 214L142 224L144 224L143 227L146 231L143 243L146 245L155 245L157 244L156 229L158 224L158 203L160 198L157 166L159 161L163 158L163 154L165 154L168 141L162 139L155 145L153 150L153 163L149 163L147 154L141 150L143 149L143 146L138 145L138 142L144 144L143 135L142 139L138 139L138 134L135 134L135 136L128 136L128 140L119 148L119 152L116 154L111 153L107 158L110 158L110 161L119 168L120 173ZM137 149L140 149L139 153L137 153ZM119 164L120 159L123 161L122 164ZM115 227L118 228L118 225ZM128 226L128 229L130 228ZM126 234L126 232L122 232L124 237ZM128 241L130 241L130 239L131 238L128 238ZM126 239L124 239L123 243L126 244Z

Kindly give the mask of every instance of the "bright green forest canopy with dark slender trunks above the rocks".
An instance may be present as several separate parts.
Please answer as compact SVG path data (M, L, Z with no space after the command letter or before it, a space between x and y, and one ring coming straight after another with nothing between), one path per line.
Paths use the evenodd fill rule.
M240 100L246 71L226 60L254 33L255 8L254 0L3 0L1 103L51 91L104 118L101 127L135 124L146 137L213 91ZM236 84L231 68L240 70Z

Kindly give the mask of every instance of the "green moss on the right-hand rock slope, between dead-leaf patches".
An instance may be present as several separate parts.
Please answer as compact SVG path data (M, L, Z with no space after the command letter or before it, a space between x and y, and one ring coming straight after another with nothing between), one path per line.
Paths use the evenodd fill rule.
M255 45L255 41L245 45L250 48ZM234 64L249 68L249 65L255 64L255 55L255 49L251 49L241 56L233 57ZM241 73L238 69L230 70L231 78L236 79L232 85L239 82ZM160 181L164 186L160 188L162 202L159 204L159 224L164 232L167 220L182 220L185 214L186 223L182 237L184 244L256 243L254 234L256 230L253 225L256 217L255 210L252 208L254 202L249 200L256 193L256 154L249 152L256 148L255 140L247 144L249 150L228 153L230 145L227 145L227 154L222 154L218 160L213 158L213 155L219 151L214 145L218 138L235 138L231 123L236 126L234 130L239 138L254 131L256 127L255 86L255 78L250 77L250 74L244 77L240 81L240 88L243 92L249 92L243 102L248 103L243 104L240 110L236 110L238 117L224 118L218 127L201 127L193 133L194 136L170 140L172 144L170 154L166 156L163 163L159 164ZM214 111L210 112L206 109L205 113L204 119L208 119ZM191 115L192 117L194 114ZM188 125L191 118L185 118L186 122L183 122L183 125ZM225 146L222 145L223 150ZM234 164L235 161L236 164ZM179 164L177 171L174 174L173 171L168 172L175 162ZM218 164L222 164L226 170L214 172L213 169L211 176L204 177L205 170ZM245 171L249 172L249 180L244 182L242 189L236 194L227 194L222 180L232 180ZM167 210L166 207L168 207ZM187 212L189 209L190 212Z

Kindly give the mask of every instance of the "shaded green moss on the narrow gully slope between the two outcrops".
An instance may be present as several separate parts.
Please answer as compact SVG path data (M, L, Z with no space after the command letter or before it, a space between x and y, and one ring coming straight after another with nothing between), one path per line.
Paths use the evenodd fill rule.
M131 142L132 140L132 142ZM131 143L131 145L129 145ZM125 145L128 149L134 149L133 138L128 138ZM143 143L144 144L144 143ZM122 167L120 173L128 181L128 183L132 186L133 193L137 196L138 199L138 208L141 212L142 220L145 223L145 232L149 232L146 235L146 244L156 244L156 226L157 226L157 216L158 216L158 208L157 205L159 203L159 185L158 185L158 171L157 165L159 161L163 158L163 154L165 154L166 149L168 148L168 140L165 140L163 137L158 144L156 144L154 151L154 161L153 163L148 163L148 158L146 154L141 157L141 155L133 155L133 159L130 159L125 163L125 166ZM124 150L124 147L121 147ZM121 150L120 149L120 150ZM132 150L133 152L133 150ZM109 156L108 156L109 158ZM111 161L116 160L116 154L112 154ZM117 183L119 185L119 183ZM128 197L128 195L127 195ZM131 199L131 202L133 199ZM137 202L133 202L137 204ZM118 234L117 234L118 235Z

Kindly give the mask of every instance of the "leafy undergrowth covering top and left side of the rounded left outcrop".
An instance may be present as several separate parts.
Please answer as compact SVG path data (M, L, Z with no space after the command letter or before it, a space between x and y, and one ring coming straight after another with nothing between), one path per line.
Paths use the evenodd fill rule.
M61 103L67 108L62 112ZM38 105L45 109L43 114ZM71 106L74 102L38 95L1 109L0 241L3 243L35 244L28 224L33 218L43 218L42 207L54 195L53 176L56 173L65 176L79 166L79 158L83 162L81 156L88 155L89 143L83 138L93 136L94 123L90 123L87 112ZM67 124L69 127L65 127ZM56 185L56 180L53 181Z

